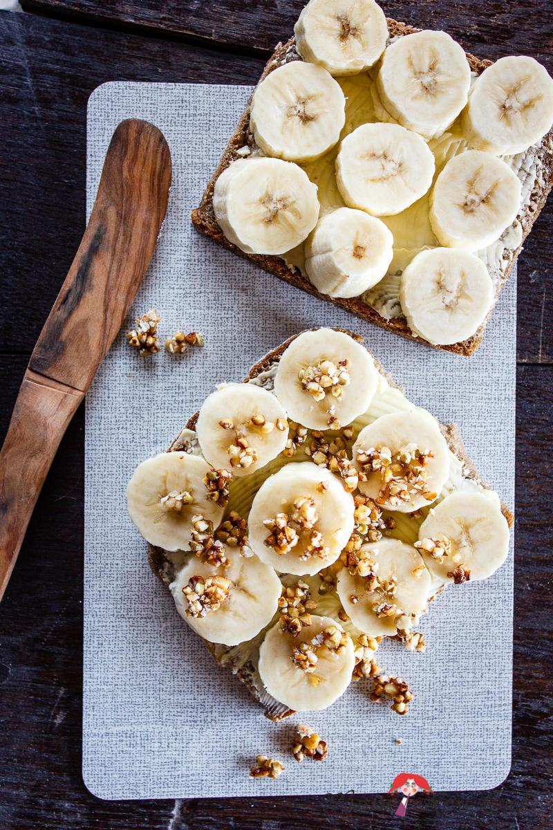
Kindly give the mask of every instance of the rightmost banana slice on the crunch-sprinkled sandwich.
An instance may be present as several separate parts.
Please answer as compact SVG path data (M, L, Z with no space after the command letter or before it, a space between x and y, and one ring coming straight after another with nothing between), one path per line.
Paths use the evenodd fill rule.
M443 583L488 579L507 559L509 528L496 493L452 493L420 525L426 567Z

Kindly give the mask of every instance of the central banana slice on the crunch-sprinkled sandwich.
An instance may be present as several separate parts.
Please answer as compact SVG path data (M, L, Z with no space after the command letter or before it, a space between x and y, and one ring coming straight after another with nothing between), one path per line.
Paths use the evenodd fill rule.
M353 532L353 498L311 461L287 464L264 481L248 519L250 548L285 574L317 574Z

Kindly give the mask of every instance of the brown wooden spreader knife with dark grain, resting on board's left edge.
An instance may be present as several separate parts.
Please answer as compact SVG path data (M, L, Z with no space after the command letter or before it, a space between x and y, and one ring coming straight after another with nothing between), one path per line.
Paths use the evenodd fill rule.
M0 451L0 599L65 429L148 268L171 186L163 134L115 130L85 236L36 342Z

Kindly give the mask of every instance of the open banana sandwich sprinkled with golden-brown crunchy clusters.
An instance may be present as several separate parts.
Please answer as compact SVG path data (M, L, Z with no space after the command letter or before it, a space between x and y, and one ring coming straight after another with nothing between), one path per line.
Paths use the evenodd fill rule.
M405 714L408 687L377 650L394 637L424 651L429 602L507 557L512 515L455 428L360 340L298 334L216 388L129 482L177 613L273 720L325 709L363 677Z

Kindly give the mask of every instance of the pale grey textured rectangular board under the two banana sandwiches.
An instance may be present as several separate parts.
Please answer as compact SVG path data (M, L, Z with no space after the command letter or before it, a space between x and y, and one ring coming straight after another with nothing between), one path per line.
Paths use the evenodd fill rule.
M250 90L244 86L111 83L90 98L87 206L120 120L167 137L173 183L163 234L129 315L155 308L163 336L206 335L204 349L144 360L124 328L87 397L83 774L100 798L375 793L396 774L435 790L488 789L511 763L512 556L488 582L448 590L421 628L424 655L386 644L379 664L415 691L404 718L352 686L305 715L330 745L323 764L296 764L298 718L266 720L245 687L212 660L148 568L125 509L138 461L162 452L214 384L311 325L363 334L415 402L461 428L485 481L513 505L516 286L512 276L471 358L377 330L293 289L197 234L190 222ZM402 745L395 745L396 736ZM247 775L255 754L284 760L279 779Z

